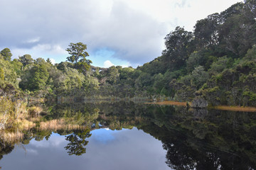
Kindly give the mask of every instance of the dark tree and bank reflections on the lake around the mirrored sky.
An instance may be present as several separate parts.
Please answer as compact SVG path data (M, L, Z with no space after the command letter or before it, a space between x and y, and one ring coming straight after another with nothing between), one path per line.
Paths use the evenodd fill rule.
M47 114L41 116L36 127L23 130L19 140L6 140L1 135L0 159L15 144L48 140L52 132L65 135L69 155L82 155L90 131L136 127L162 142L166 164L172 169L256 169L255 113L133 102L56 103L43 107ZM50 126L53 122L55 125Z

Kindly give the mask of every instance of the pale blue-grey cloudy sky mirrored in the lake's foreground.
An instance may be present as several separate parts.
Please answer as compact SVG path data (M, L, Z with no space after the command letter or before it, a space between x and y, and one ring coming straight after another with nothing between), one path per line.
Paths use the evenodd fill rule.
M31 140L4 155L2 169L170 169L166 151L159 140L142 130L93 130L86 153L69 156L65 136L53 133L50 139ZM2 164L3 163L3 164Z

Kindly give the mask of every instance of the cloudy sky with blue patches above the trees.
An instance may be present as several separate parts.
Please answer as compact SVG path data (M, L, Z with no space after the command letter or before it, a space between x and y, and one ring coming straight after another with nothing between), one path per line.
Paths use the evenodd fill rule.
M0 0L0 50L13 58L64 62L70 42L82 42L92 65L136 68L161 56L176 26L196 21L238 0Z

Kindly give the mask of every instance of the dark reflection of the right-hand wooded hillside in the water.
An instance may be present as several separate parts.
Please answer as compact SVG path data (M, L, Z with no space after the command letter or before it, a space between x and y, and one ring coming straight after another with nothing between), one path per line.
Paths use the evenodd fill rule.
M171 168L255 168L253 113L176 108L175 113L162 121L158 118L156 116L150 125L141 129L163 142L166 163Z

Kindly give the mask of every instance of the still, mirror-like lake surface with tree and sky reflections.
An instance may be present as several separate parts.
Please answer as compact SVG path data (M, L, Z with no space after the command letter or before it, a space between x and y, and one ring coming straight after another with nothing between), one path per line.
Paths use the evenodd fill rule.
M255 169L256 113L135 103L43 106L41 121L0 141L2 169Z

